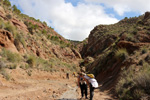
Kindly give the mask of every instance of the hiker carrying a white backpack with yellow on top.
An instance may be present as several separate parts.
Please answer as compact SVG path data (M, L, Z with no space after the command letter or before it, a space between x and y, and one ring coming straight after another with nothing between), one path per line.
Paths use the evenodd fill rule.
M84 74L82 73L84 78L88 80L90 85L90 100L93 100L94 96L94 89L98 87L98 82L95 79L95 76L93 74Z

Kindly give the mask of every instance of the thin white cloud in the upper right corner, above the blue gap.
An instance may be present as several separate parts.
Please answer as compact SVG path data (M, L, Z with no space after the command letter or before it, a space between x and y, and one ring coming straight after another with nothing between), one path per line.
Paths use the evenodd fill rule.
M106 7L113 8L120 16L125 12L138 12L143 14L150 11L150 0L85 0L90 3L103 3Z

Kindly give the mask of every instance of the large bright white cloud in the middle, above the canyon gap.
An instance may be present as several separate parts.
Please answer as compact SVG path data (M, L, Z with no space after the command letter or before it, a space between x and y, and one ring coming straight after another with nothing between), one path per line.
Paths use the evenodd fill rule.
M98 24L112 24L118 20L104 12L100 5L78 3L73 6L64 0L10 0L23 13L47 21L63 37L83 40Z

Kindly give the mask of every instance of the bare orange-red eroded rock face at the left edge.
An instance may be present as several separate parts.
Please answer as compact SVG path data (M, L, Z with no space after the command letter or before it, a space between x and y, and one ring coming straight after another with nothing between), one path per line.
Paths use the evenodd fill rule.
M14 45L12 34L6 30L0 30L0 48L5 47L12 52L18 52Z

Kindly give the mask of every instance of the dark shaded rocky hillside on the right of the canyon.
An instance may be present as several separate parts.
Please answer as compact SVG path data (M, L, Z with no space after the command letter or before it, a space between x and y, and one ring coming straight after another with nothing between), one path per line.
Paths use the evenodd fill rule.
M146 12L113 25L96 26L81 51L81 66L96 75L103 89L113 88L121 100L140 100L150 93L146 89L149 52L150 12Z

